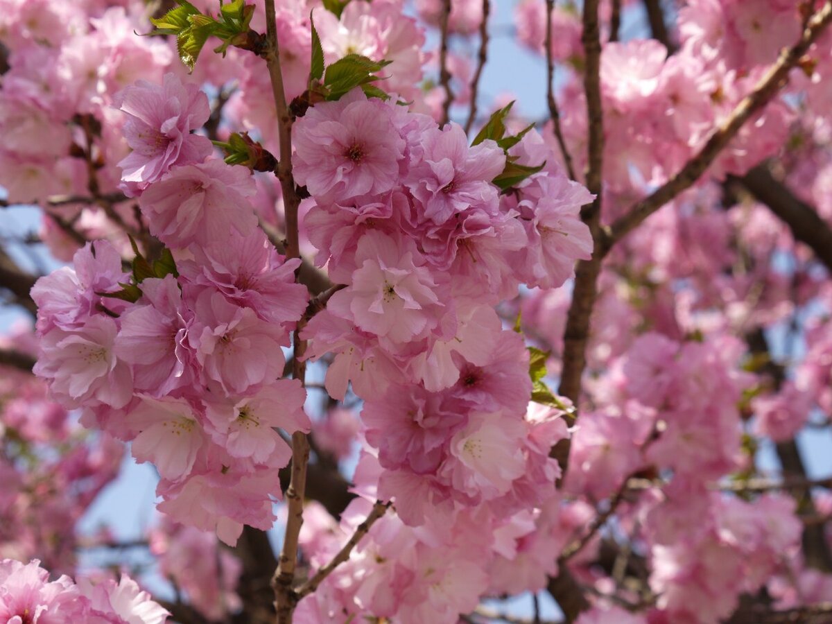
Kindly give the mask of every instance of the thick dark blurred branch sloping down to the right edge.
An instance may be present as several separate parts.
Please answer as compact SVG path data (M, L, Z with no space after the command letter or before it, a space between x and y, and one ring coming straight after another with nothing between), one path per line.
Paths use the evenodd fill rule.
M755 166L738 180L757 201L779 216L789 226L795 240L808 245L832 273L832 228L814 208L776 181L765 164Z

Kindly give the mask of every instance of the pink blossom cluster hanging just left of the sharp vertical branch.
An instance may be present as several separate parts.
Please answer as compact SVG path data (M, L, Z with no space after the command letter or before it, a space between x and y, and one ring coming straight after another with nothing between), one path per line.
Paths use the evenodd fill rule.
M206 110L205 95L174 77L165 94L161 110ZM161 95L139 84L122 100L143 97ZM128 124L128 141L163 131L166 115ZM131 303L108 296L130 281L111 245L78 251L74 270L32 290L35 372L67 408L84 408L86 423L131 441L138 461L156 465L162 511L233 543L243 524L266 529L275 520L274 474L291 454L275 428L310 427L305 390L280 379L282 348L308 295L295 284L300 261L285 262L256 227L249 172L219 160L166 160L171 145L141 144L128 166L146 176L137 181L139 205L176 270L141 280Z

